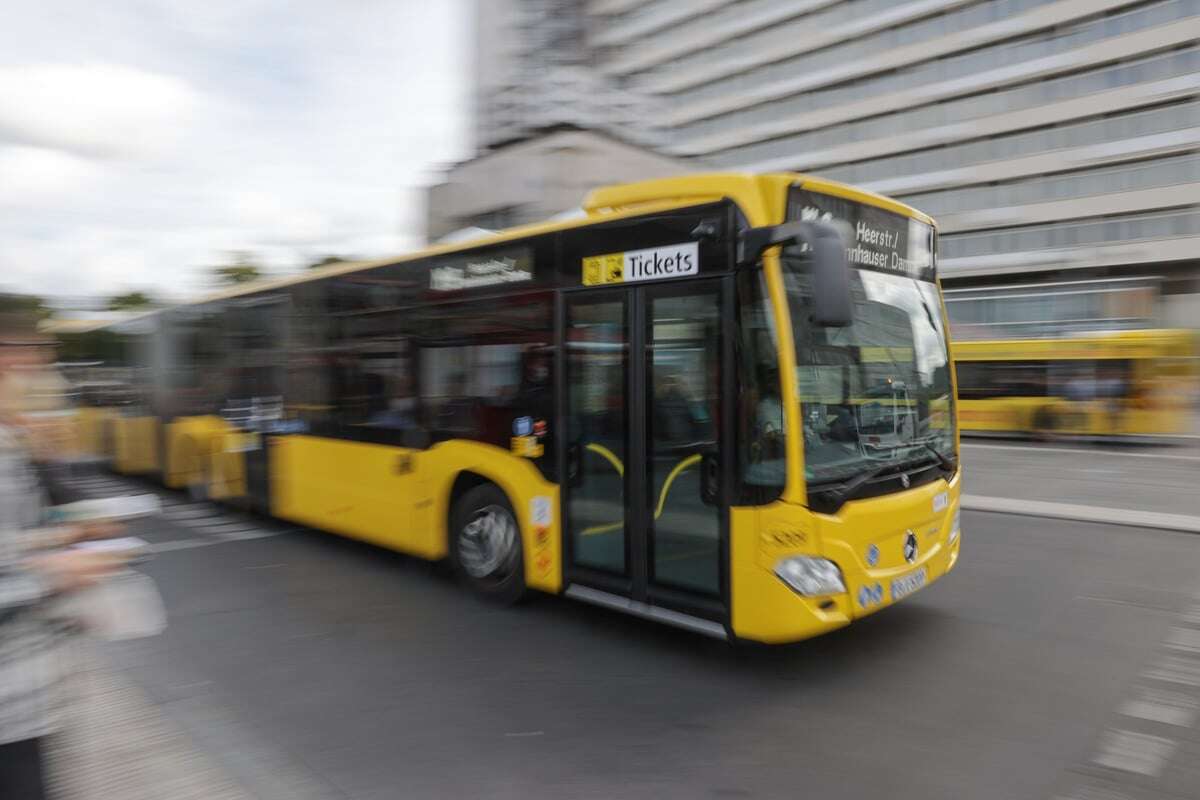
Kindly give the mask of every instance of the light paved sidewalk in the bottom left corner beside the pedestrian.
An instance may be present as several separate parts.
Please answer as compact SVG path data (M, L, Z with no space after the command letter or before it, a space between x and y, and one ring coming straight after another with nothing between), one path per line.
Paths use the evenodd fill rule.
M204 756L94 643L48 769L59 800L254 800Z

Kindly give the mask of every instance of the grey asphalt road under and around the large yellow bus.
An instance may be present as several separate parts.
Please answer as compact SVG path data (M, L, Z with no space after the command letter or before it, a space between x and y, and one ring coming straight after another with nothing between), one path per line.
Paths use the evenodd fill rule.
M170 627L106 655L259 800L1200 798L1193 534L967 511L947 579L733 649L169 503L137 533Z

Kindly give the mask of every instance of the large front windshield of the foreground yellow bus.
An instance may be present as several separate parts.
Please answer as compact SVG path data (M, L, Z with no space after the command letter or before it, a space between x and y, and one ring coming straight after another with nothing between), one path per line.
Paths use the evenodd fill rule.
M805 479L812 489L926 464L947 468L954 462L954 396L932 281L932 230L878 209L869 209L864 223L868 215L856 211L866 206L832 199L854 206L822 215L846 222L854 237L848 243L853 321L812 323L808 259L800 253L782 259Z

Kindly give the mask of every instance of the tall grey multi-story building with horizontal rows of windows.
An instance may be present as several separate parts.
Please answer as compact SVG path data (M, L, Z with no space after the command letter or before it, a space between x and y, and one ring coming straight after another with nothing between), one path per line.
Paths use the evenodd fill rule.
M521 41L574 25L570 66L594 89L572 101L592 116L571 121L624 94L646 110L610 122L696 168L898 197L938 218L952 285L1153 275L1200 296L1200 0L502 5L530 12L512 17ZM509 58L530 52L545 56ZM572 108L540 97L539 113ZM478 130L480 150L505 139Z

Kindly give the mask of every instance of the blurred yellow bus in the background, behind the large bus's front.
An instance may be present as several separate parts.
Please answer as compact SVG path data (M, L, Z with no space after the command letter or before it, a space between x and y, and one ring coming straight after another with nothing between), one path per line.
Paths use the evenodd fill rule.
M959 341L962 429L1034 437L1189 433L1195 333L1132 330Z

